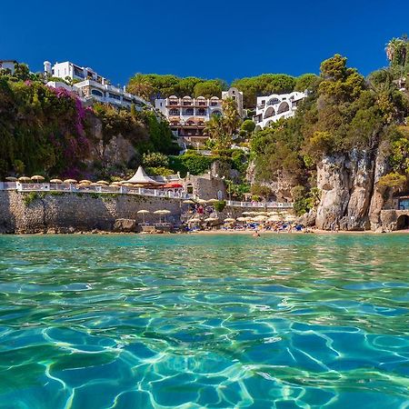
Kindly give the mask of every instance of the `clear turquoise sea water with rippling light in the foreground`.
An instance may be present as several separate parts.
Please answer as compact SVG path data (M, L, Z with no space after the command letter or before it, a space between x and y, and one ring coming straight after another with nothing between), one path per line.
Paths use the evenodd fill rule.
M0 236L1 408L409 407L409 235Z

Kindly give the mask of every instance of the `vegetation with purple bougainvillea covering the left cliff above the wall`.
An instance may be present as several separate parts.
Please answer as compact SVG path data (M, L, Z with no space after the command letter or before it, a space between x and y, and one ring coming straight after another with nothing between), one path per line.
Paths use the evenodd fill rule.
M135 160L108 168L112 158L106 151L118 135L134 147ZM105 177L135 167L138 157L148 151L179 152L169 126L153 112L101 104L85 109L75 95L49 88L26 65L17 65L14 75L0 70L1 178L9 174Z

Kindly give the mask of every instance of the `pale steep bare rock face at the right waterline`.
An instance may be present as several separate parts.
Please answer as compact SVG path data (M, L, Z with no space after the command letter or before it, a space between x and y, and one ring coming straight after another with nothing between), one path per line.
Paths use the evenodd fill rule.
M326 156L317 165L317 187L321 201L315 224L329 230L365 230L376 228L384 205L382 189L376 184L387 171L383 150L371 155L352 151L347 155Z

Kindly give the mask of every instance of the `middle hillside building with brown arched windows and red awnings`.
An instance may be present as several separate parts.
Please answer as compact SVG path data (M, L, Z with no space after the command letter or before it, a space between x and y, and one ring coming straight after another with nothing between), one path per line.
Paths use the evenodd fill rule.
M222 100L217 96L206 99L204 96L192 98L175 95L156 99L155 108L165 115L172 132L187 144L202 144L205 135L205 122L212 115L222 115Z

